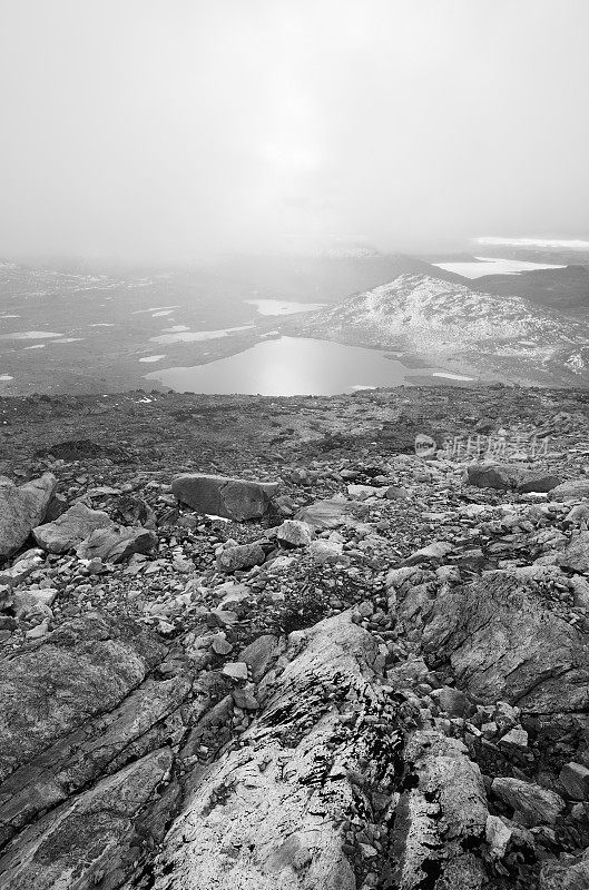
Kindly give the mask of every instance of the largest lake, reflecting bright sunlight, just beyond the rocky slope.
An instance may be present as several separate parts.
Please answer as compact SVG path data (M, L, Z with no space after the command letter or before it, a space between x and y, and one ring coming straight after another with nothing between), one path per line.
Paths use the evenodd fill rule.
M411 369L386 355L391 353L327 340L279 337L208 365L163 368L145 376L177 392L328 396L410 384L411 375L421 377L436 370Z

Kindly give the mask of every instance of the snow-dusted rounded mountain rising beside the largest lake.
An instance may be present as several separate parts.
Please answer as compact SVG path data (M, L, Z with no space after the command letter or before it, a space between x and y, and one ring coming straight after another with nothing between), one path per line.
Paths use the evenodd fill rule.
M293 317L291 329L298 336L400 350L482 378L589 383L589 338L580 320L457 280L463 279L403 273L338 306Z

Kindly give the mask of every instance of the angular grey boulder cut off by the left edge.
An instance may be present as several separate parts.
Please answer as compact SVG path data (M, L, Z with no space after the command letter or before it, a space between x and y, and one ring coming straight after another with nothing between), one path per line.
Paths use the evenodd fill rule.
M14 553L43 521L56 486L52 473L20 486L0 477L0 557Z

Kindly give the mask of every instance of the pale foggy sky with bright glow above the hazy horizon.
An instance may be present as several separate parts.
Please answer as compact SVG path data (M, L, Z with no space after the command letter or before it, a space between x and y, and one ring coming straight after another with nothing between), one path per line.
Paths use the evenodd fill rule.
M587 0L0 0L0 256L589 237Z

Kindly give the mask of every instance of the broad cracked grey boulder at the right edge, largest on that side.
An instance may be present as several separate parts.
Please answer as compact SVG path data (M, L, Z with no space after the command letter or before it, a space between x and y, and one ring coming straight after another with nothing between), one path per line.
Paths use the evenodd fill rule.
M589 706L588 637L517 577L489 574L418 604L410 591L397 613L430 662L485 702L542 714Z

